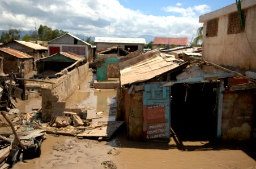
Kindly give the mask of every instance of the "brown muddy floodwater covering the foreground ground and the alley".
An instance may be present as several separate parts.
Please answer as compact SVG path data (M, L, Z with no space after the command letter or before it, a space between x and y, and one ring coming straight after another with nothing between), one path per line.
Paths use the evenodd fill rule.
M90 87L92 80L89 72L67 99L66 107L87 108L87 118L97 118L94 121L114 121L116 90L95 90ZM41 98L19 101L18 108L23 112L41 108ZM48 135L40 158L20 161L13 168L104 168L106 163L108 168L256 168L252 143L183 144L183 149L178 149L172 138L169 143L127 140L125 126L107 141Z

